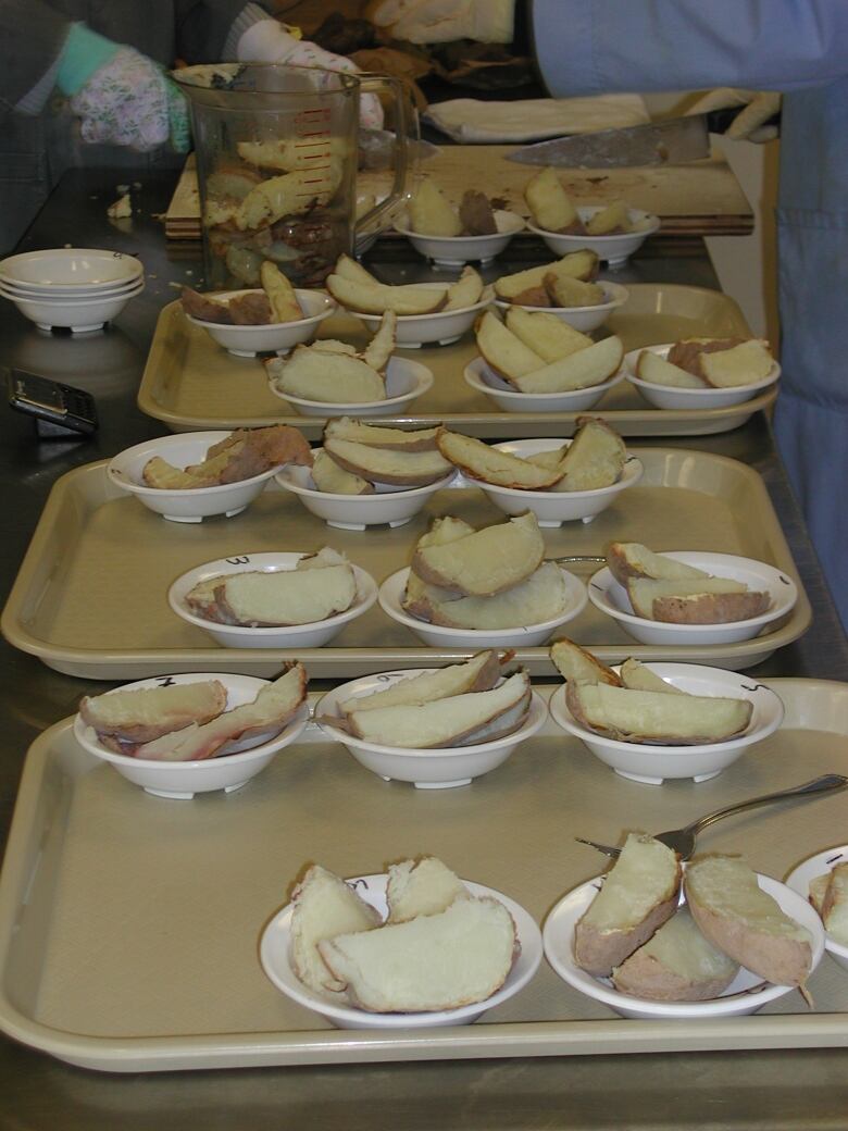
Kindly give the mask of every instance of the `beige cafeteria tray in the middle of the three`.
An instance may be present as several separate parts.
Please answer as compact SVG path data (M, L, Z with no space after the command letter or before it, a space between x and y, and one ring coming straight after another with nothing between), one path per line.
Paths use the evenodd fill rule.
M617 495L592 523L546 529L550 556L598 554L614 539L639 541L655 550L742 554L777 566L798 582L756 472L708 452L631 450L644 465L641 482ZM50 667L104 680L187 671L268 676L287 658L303 659L313 679L336 679L449 661L456 651L427 648L379 605L345 625L330 645L293 653L220 648L202 629L181 621L166 599L171 582L204 562L322 545L343 551L381 582L409 564L414 542L434 516L444 513L476 527L505 520L479 489L452 487L436 492L406 526L339 530L308 513L295 495L275 484L235 518L170 523L113 486L105 463L89 464L55 483L3 611L2 631ZM588 579L595 569L574 567L574 572ZM560 634L590 646L607 663L631 655L743 668L797 639L810 620L810 603L799 585L789 616L743 644L640 645L591 604ZM518 658L530 674L554 674L546 648L519 648Z

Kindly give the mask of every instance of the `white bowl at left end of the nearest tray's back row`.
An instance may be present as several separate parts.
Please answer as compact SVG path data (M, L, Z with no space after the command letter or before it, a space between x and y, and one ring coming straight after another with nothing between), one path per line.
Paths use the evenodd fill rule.
M270 683L270 680L260 680L252 675L191 672L139 680L114 690L129 691L173 683L202 683L207 680L219 680L224 684L227 690L227 710L252 702L262 688ZM102 745L94 728L86 726L79 715L73 719L73 737L84 750L104 762L110 762L122 777L135 785L140 785L147 793L176 801L190 801L197 793L211 793L217 789L232 793L234 789L240 789L245 782L261 772L284 746L295 742L308 722L309 707L302 703L296 715L282 729L270 728L265 734L230 742L215 758L190 762L164 762L118 754Z

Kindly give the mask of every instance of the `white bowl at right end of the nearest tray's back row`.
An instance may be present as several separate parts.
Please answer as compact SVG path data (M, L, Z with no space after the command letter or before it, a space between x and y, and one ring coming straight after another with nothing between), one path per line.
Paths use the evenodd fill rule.
M753 706L751 723L743 734L726 742L696 746L673 746L647 742L618 742L595 734L578 723L565 705L565 685L551 697L551 715L573 734L596 758L612 766L621 777L643 785L663 785L666 778L692 778L709 782L741 757L744 750L762 742L784 720L784 705L770 688L749 676L703 664L646 664L651 672L674 688L693 696L725 696L747 699Z

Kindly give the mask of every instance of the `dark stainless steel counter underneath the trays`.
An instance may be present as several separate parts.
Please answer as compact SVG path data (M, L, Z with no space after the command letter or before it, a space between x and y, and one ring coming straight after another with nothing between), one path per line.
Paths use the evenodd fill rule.
M166 247L155 218L167 206L172 175L145 173L141 188L133 191L140 213L132 221L107 221L106 206L115 199L119 181L132 180L123 170L68 174L21 243L21 250L73 243L138 253L147 290L113 327L78 339L47 336L10 304L0 309L2 363L88 389L101 415L93 440L38 441L26 418L0 413L0 484L8 516L0 545L3 592L57 476L163 431L138 412L136 391L156 316L175 294L171 284L201 285L202 268L194 245ZM540 245L529 245L513 252L507 266L542 256ZM430 277L424 260L395 248L381 251L378 245L369 266L390 282ZM503 267L501 261L499 270ZM717 285L700 242L681 245L674 253L664 249L661 258L647 249L615 278ZM848 644L767 422L755 418L726 435L683 439L677 446L726 455L756 468L813 604L814 623L807 634L760 665L758 675L848 680ZM58 675L0 644L3 840L27 746L42 728L72 714L80 694L99 687ZM0 1129L845 1128L847 1081L848 1051L833 1050L106 1077L0 1038Z

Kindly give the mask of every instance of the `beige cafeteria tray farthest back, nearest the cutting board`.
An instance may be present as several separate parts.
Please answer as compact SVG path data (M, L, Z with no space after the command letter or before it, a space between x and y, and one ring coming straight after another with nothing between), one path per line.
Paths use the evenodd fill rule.
M626 349L693 335L749 335L742 311L727 295L702 287L638 284L628 304L609 320ZM362 323L340 313L321 327L323 337L364 344ZM579 413L503 413L484 394L466 385L462 370L476 355L474 335L448 346L407 351L435 377L432 389L412 411L386 421L412 424L442 421L473 435L519 439L571 435ZM770 405L776 388L729 408L669 411L652 408L622 381L592 413L606 417L623 435L707 435L738 428L752 413ZM138 391L139 408L174 432L252 426L279 421L296 424L306 435L320 435L322 421L300 416L268 389L256 359L234 357L183 316L180 303L162 310Z

